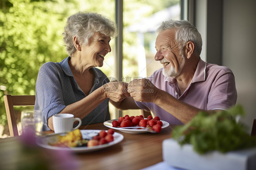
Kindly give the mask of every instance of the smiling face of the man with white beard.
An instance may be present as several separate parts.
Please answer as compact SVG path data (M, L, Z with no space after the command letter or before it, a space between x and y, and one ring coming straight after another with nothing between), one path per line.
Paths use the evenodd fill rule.
M156 38L155 48L157 53L154 58L163 65L164 76L177 77L184 67L185 57L175 40L175 30L160 32Z

